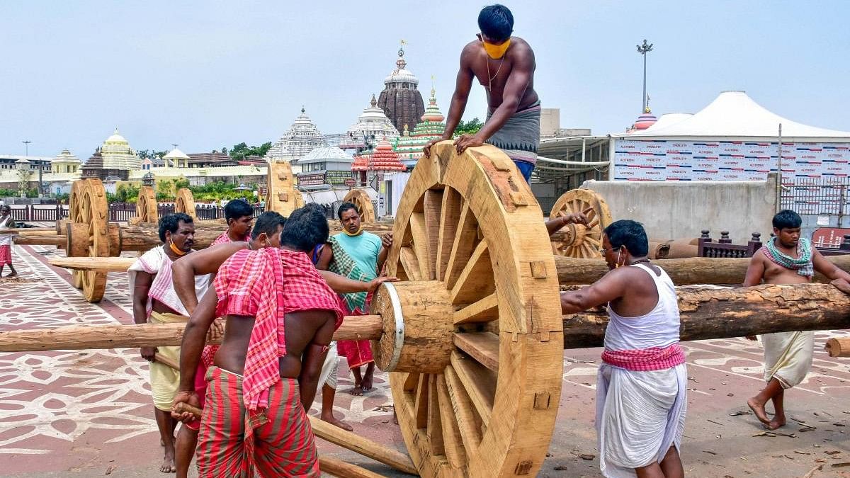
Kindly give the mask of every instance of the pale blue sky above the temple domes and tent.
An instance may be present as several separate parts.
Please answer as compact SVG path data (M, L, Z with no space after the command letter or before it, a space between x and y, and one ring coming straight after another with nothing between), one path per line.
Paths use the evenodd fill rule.
M275 140L301 105L345 131L404 38L423 97L448 111L484 2L3 2L0 153L88 158L116 126L136 149ZM656 114L743 89L792 120L850 130L850 2L507 2L562 128L621 131L640 112L643 38ZM476 86L465 117L484 116Z

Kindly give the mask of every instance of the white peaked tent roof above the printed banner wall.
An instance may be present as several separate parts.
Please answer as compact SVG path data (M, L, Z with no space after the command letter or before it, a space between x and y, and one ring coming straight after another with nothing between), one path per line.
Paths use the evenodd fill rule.
M667 115L665 115L667 116ZM661 117L662 119L664 116ZM817 128L766 110L743 91L724 91L700 112L666 124L656 122L651 128L631 134L611 134L620 139L776 139L779 124L782 137L788 140L819 143L847 143L850 132Z

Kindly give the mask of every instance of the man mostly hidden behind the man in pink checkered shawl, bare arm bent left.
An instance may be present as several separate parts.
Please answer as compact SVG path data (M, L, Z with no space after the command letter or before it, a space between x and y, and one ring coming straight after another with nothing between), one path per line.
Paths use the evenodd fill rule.
M195 277L215 274L218 267L224 263L233 253L242 249L258 250L261 248L279 248L280 230L286 223L286 218L279 213L266 212L259 215L254 229L251 232L251 242L226 242L218 246L212 246L196 253L186 254L172 265L172 282L174 291L180 302L191 314L198 305L198 296L195 289ZM213 322L213 324L217 323ZM204 405L204 396L207 394L207 369L212 365L212 357L218 351L218 345L206 345L201 352L201 360L195 371L195 393ZM178 418L174 417L173 418ZM185 478L189 474L189 465L198 441L198 430L201 422L198 420L187 421L180 427L177 435L175 465L178 478Z

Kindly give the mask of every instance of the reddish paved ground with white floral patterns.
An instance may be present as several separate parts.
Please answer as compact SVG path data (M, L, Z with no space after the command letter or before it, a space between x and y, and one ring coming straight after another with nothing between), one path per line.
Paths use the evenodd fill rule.
M47 265L60 253L14 247L21 279L0 279L0 330L132 322L125 275L111 274L105 300L88 304L65 270ZM819 333L816 350L836 334L847 335ZM689 476L790 478L824 465L813 476L850 477L850 362L819 351L807 381L786 392L792 420L780 431L793 436L759 435L745 400L763 384L761 346L743 339L685 345L690 388L683 460ZM598 349L564 353L558 424L541 476L600 476L592 428L598 355ZM339 373L337 416L371 440L404 450L387 407L386 377L378 375L376 390L365 397L352 397L343 391L351 384L347 371ZM0 475L161 476L149 390L147 362L137 350L0 354ZM321 453L391 475L343 448L318 446Z

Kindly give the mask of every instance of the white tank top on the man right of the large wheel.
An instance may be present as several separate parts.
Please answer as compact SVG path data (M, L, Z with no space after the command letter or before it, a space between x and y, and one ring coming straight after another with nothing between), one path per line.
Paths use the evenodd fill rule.
M610 322L605 330L606 350L642 350L664 348L679 341L679 304L670 276L659 267L661 275L647 265L636 264L655 281L658 302L649 314L638 317L618 315L608 305Z

